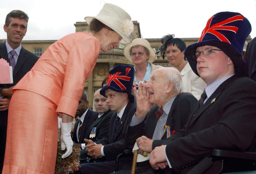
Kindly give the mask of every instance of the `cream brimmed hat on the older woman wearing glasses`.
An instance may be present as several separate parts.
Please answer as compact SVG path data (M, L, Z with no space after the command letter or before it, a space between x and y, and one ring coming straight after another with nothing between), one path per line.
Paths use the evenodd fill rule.
M132 62L132 57L130 53L131 53L132 47L134 46L142 46L148 49L149 51L148 62L152 63L156 60L156 50L150 46L150 43L146 39L136 38L132 41L132 43L126 45L123 49L124 57L126 57L126 59L128 59L130 62Z

